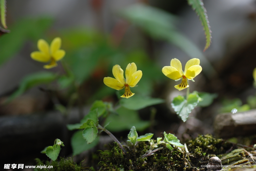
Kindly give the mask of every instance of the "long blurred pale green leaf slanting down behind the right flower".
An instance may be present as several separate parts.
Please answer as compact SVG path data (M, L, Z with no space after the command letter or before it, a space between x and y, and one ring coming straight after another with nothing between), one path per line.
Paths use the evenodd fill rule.
M216 74L216 71L205 58L204 54L202 54L201 50L176 29L175 22L178 18L174 15L164 10L142 4L127 7L120 12L120 15L145 30L152 38L173 43L191 59L200 59L201 65L204 67L202 71L206 76L211 77Z

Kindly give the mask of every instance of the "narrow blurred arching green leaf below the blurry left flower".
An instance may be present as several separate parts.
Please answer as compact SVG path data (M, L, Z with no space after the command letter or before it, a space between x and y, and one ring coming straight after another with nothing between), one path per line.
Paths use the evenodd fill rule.
M57 74L53 72L39 72L25 76L16 90L8 99L7 102L12 101L16 97L22 95L26 90L38 86L40 84L49 84L57 78Z

